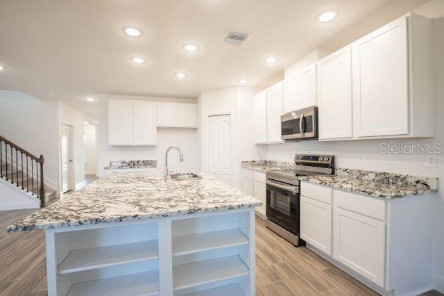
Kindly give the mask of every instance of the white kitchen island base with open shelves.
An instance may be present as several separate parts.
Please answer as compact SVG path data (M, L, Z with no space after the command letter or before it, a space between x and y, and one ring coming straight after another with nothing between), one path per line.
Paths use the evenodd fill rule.
M46 229L48 295L255 295L255 208Z

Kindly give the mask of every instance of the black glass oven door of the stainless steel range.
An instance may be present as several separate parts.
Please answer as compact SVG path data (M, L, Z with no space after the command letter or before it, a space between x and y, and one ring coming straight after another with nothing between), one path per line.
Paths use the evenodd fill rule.
M298 186L266 180L266 217L291 233L299 233Z

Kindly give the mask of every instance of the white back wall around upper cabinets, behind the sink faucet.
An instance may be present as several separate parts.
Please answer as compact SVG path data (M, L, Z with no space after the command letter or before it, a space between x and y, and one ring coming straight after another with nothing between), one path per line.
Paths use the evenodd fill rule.
M169 170L192 169L197 170L197 132L196 129L160 128L157 129L157 146L155 147L116 147L108 146L108 99L133 99L146 101L173 101L182 103L196 103L194 99L174 99L158 97L136 97L120 95L101 95L98 101L97 126L97 154L99 177L105 174L103 167L110 161L130 161L142 159L157 160L157 168L163 169L164 155L171 145L178 146L184 155L184 162L180 163L177 151L170 151L168 157Z

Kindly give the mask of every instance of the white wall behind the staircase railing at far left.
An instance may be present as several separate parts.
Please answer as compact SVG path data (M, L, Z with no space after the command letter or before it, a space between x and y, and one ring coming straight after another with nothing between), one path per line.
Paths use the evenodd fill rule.
M59 187L57 117L55 101L0 90L0 135L35 156L44 156L44 179L52 188Z

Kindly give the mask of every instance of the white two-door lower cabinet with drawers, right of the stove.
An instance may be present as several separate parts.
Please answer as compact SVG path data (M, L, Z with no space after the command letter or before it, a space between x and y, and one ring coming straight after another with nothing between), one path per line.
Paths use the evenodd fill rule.
M430 289L434 195L379 199L305 181L300 192L310 249L385 293Z

